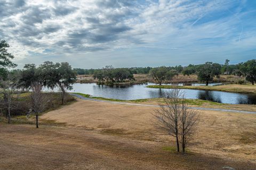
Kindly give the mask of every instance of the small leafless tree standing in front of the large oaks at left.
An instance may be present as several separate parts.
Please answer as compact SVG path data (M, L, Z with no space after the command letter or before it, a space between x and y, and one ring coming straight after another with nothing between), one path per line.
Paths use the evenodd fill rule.
M43 112L46 106L46 96L42 92L43 85L41 83L31 84L31 103L30 108L36 115L36 128L38 128L38 114Z

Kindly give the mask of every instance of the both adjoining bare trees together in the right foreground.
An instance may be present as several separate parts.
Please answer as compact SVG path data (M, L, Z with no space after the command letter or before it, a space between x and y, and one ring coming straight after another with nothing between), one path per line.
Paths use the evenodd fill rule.
M174 88L166 92L164 104L155 111L154 124L176 139L177 152L185 152L188 142L192 139L199 117L197 111L189 109L185 103L182 89Z

